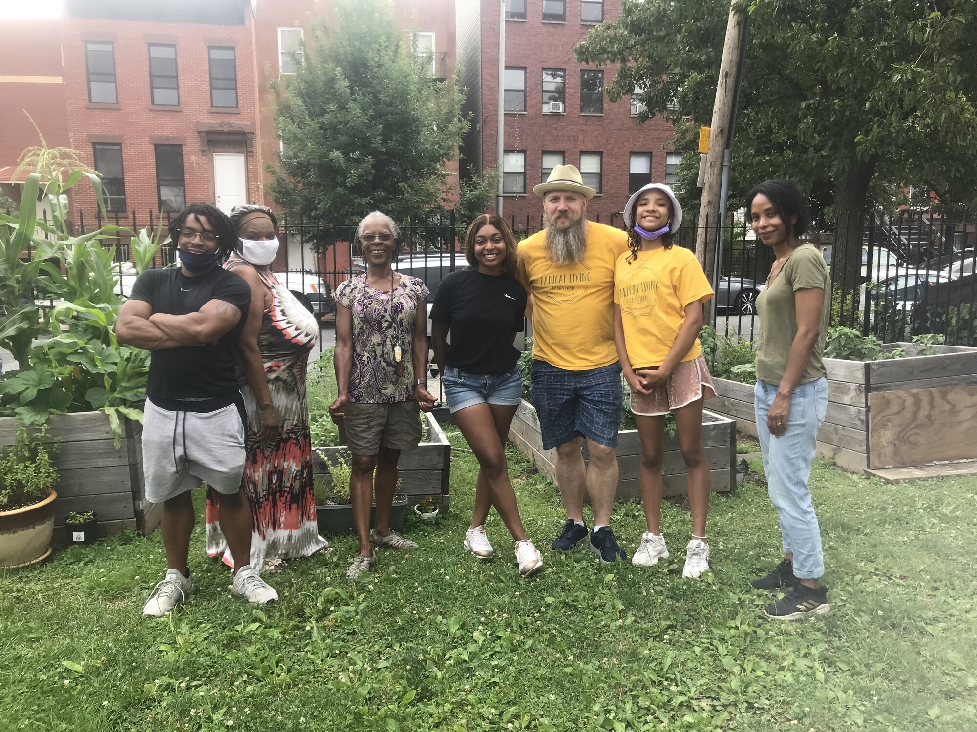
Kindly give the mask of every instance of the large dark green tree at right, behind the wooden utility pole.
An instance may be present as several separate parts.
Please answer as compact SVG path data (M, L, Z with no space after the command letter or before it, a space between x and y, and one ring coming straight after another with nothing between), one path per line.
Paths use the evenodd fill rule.
M750 38L731 200L766 178L799 183L834 228L835 282L850 292L872 199L891 202L905 185L932 190L945 204L977 197L977 3L743 0L741 7ZM642 116L672 117L678 148L691 150L699 126L710 123L729 10L728 0L625 0L618 20L594 28L576 57L621 63L608 97L643 89ZM673 100L677 111L668 111ZM693 157L680 168L687 195L695 191Z

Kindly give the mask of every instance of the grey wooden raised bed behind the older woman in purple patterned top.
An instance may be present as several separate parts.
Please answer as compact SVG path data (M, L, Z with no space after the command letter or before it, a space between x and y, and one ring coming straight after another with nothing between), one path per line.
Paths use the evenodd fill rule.
M441 510L446 512L451 501L449 481L451 474L451 443L445 431L433 415L428 414L425 441L416 450L404 450L398 463L401 484L397 493L407 496L440 496ZM317 447L313 449L313 474L321 479L327 488L332 487L332 476L326 461L334 461L339 455L349 459L345 445L338 447Z

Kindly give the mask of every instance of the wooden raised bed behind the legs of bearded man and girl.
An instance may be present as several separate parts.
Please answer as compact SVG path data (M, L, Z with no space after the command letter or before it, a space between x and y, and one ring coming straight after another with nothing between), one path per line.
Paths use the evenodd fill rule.
M728 417L703 412L702 441L709 463L709 484L715 493L728 493L736 488L736 421ZM542 449L539 419L530 402L523 400L509 429L509 439L519 451L530 458L539 472L556 482L556 450ZM587 459L586 440L583 458ZM638 469L641 463L641 441L638 430L622 429L617 434L617 499L627 501L641 496ZM665 458L662 466L664 495L684 496L687 493L685 463L679 452L678 437L665 438Z

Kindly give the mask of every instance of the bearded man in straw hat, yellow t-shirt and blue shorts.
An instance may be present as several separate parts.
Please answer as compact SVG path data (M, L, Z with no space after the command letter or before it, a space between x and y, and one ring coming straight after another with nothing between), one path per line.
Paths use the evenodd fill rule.
M609 564L626 559L611 531L617 489L620 364L614 346L614 270L627 233L586 220L595 191L573 165L558 165L532 192L546 228L519 245L519 277L530 294L532 405L543 449L556 448L556 476L567 520L553 549L570 551L590 535ZM589 464L580 452L586 439ZM593 531L583 520L590 496Z

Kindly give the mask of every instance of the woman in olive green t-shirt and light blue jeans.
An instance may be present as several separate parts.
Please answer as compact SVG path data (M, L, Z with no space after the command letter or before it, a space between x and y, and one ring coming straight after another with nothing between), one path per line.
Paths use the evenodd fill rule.
M791 588L763 612L776 620L796 620L830 610L828 589L819 581L825 573L821 529L807 485L828 409L823 353L830 278L818 250L799 240L810 216L793 183L760 183L746 195L746 211L757 238L777 257L757 298L753 397L763 470L780 517L785 553L770 574L752 585L758 590Z

